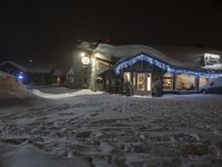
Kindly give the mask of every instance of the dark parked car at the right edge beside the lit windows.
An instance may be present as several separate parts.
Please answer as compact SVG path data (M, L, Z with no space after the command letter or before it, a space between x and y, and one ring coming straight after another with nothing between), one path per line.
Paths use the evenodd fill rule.
M203 85L200 90L204 94L222 94L222 77Z

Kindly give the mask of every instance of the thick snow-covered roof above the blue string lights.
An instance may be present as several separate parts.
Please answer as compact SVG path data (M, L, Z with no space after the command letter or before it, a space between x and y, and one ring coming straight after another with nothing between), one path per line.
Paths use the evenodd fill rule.
M148 55L158 60L164 61L171 66L188 69L208 69L203 67L203 56L205 52L222 55L222 51L205 49L205 48L189 48L189 47L168 47L168 46L142 46L142 45L127 45L127 46L111 46L108 43L82 42L78 46L79 49L91 50L92 53L100 59L111 60L119 59L122 62L131 57L140 53ZM221 66L212 68L212 70L222 70Z

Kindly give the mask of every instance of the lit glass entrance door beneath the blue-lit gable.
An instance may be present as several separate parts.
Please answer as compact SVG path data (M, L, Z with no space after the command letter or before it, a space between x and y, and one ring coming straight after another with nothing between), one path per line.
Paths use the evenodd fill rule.
M137 75L137 95L149 95L151 92L151 73L139 72Z

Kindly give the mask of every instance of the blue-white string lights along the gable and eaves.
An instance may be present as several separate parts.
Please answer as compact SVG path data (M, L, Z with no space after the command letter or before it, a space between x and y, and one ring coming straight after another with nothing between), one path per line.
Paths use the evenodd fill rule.
M160 69L163 69L164 71L169 72L169 73L175 73L175 75L188 75L188 76L196 76L196 77L205 77L205 78L219 78L222 77L222 73L213 73L210 71L194 71L194 70L188 70L188 69L182 69L182 68L175 68L169 63L162 62L158 59L154 59L148 55L138 55L127 61L120 62L115 66L115 72L118 75L121 73L121 71L123 71L123 69L129 68L131 66L133 66L134 63L139 62L139 61L145 61L149 62L150 65L157 66Z

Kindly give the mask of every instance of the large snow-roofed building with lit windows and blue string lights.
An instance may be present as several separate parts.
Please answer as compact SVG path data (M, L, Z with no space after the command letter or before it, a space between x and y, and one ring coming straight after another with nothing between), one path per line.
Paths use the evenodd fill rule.
M210 79L222 77L221 51L211 49L88 42L78 49L91 62L89 88L93 90L151 95L162 87L164 91L196 91Z

